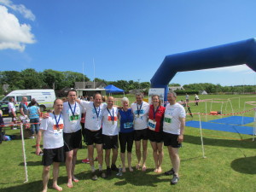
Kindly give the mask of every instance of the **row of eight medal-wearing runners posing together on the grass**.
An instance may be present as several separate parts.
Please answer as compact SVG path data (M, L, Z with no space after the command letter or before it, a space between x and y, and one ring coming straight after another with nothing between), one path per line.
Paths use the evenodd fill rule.
M77 99L75 90L69 90L67 102L56 99L52 113L46 113L41 122L36 154L43 154L43 184L47 191L49 168L53 164L53 188L62 190L57 184L59 164L66 157L67 187L72 188L73 182L79 182L74 176L77 153L82 147L82 132L88 148L91 178L109 177L111 172L119 171L116 166L118 148L122 172L126 172L125 152L127 152L128 170L133 172L131 166L131 152L135 141L138 170L147 170L148 139L153 148L154 172L162 172L163 143L168 148L172 162L172 169L165 172L172 175L172 184L178 182L180 160L178 148L183 143L185 127L185 110L176 102L175 92L169 92L169 104L161 105L160 96L152 96L152 104L143 101L143 94L136 94L136 102L129 104L127 97L122 98L121 106L114 105L113 96L108 96L107 103L102 103L102 95L96 93L93 101L87 102ZM81 114L85 113L84 131L81 131ZM118 123L119 121L119 123ZM44 137L44 149L40 142ZM98 171L94 165L94 148L96 148ZM103 149L105 150L105 163L107 172L103 172ZM110 154L112 151L112 158ZM65 154L65 155L64 155Z

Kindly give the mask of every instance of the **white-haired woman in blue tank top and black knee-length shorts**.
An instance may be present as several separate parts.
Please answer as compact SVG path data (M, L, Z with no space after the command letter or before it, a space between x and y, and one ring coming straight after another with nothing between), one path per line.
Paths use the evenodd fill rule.
M124 97L122 100L123 108L119 110L119 144L121 148L121 160L123 169L122 172L126 172L125 168L125 148L127 145L127 160L128 160L128 168L130 172L133 172L131 167L131 149L133 144L133 113L131 112L131 108L129 108L129 99Z

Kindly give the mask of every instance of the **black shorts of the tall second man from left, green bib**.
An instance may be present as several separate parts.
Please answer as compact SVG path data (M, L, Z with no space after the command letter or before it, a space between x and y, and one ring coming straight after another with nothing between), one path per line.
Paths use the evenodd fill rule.
M72 133L63 132L63 139L65 152L71 151L74 148L82 148L81 130Z

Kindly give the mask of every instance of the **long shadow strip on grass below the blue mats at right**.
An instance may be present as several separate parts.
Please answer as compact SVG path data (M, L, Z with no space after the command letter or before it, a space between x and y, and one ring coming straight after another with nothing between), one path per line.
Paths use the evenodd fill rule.
M183 146L185 146L186 143L201 145L201 137L185 135ZM227 148L255 148L255 143L252 142L252 139L231 140L204 137L203 143L204 145L222 146Z

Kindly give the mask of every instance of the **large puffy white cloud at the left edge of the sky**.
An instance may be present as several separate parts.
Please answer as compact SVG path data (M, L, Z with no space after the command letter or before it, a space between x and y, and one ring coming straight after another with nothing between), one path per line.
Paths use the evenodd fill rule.
M8 9L0 5L0 49L23 51L26 44L33 43L35 43L35 39L31 32L31 26L20 24L15 15L9 14Z

